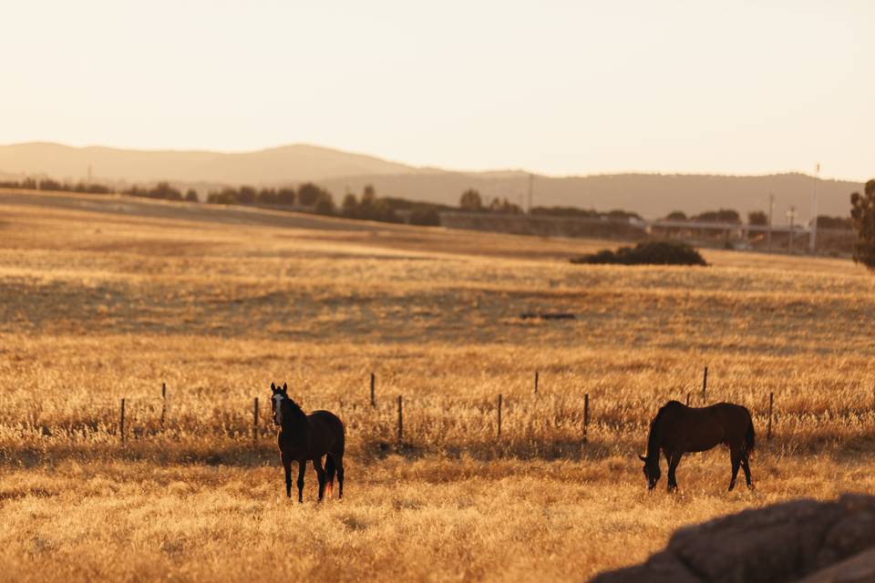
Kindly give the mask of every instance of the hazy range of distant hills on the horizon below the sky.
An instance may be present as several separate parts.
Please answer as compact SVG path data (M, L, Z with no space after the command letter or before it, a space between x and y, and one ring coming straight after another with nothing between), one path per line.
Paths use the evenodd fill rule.
M365 184L373 184L381 196L457 204L462 191L473 188L487 198L507 198L528 206L529 175L525 172L423 169L300 144L242 153L70 148L49 143L0 146L0 174L75 181L87 177L89 166L98 182L117 186L168 180L193 185L201 196L222 185L278 186L309 180L335 193L338 202L346 189L361 192ZM786 220L790 205L796 206L798 220L808 220L813 183L812 177L802 174L536 176L533 202L536 206L633 210L646 218L658 218L672 210L687 214L718 208L742 214L768 210L771 192L775 222L780 223ZM850 193L861 188L855 182L819 180L818 214L847 215Z

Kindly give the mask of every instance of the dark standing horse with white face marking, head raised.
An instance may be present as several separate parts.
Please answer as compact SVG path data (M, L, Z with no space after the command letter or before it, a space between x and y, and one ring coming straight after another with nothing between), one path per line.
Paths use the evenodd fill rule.
M327 411L305 414L289 398L284 383L282 389L271 383L271 391L273 424L280 427L277 443L285 468L285 495L292 497L292 462L297 462L298 502L304 502L304 468L308 461L312 461L319 478L319 501L322 502L326 484L328 496L334 492L335 471L340 489L337 497L344 497L344 424L337 415ZM323 455L326 456L324 469Z

